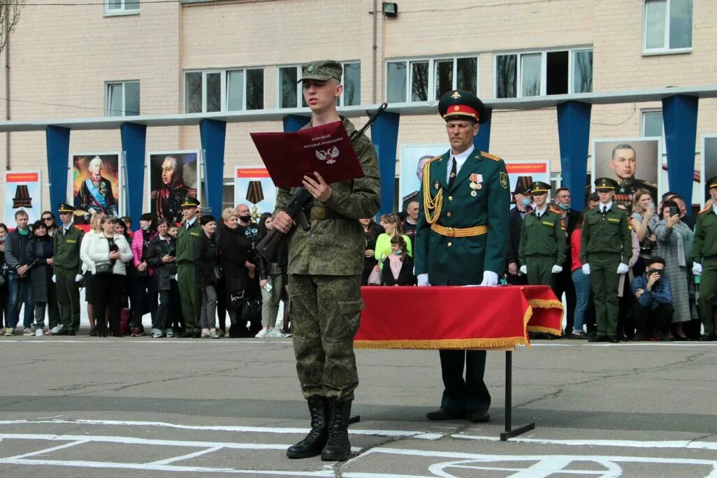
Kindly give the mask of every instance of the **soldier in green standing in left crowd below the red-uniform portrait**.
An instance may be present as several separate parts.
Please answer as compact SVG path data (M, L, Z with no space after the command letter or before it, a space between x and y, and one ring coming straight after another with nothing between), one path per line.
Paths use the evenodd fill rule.
M184 222L179 226L177 234L177 285L181 299L181 313L184 317L184 338L199 338L199 289L194 285L194 241L199 234L204 234L199 227L196 214L199 212L199 201L186 197L181 203Z

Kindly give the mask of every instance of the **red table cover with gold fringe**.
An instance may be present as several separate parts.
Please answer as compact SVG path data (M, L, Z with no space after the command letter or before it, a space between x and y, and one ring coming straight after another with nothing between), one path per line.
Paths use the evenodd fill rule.
M561 334L563 305L546 285L362 287L354 348L490 349Z

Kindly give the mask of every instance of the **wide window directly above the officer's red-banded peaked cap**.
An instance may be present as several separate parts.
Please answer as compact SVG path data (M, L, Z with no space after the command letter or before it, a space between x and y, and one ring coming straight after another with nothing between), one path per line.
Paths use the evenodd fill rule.
M386 101L440 100L451 90L478 95L478 57L395 60L386 63Z

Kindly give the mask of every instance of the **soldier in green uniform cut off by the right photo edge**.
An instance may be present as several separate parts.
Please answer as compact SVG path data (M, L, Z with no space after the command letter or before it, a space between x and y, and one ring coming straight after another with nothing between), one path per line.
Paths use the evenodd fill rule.
M692 250L692 272L700 277L700 315L705 333L700 340L717 340L715 299L717 298L717 176L709 178L707 186L712 205L697 216L695 245Z

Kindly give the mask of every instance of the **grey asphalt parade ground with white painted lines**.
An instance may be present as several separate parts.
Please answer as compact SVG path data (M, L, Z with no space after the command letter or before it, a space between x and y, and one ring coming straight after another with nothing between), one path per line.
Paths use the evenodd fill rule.
M84 330L82 333L86 334ZM348 462L308 431L291 339L0 338L0 477L717 477L717 343L538 341L488 353L488 424L430 422L432 350L356 350Z

